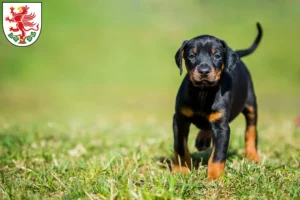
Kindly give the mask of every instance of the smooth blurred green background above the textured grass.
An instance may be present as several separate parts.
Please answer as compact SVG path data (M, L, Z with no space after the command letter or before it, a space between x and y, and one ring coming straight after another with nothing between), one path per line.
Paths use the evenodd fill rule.
M300 114L300 1L42 2L34 45L19 48L0 38L2 118L171 120L183 78L174 62L182 41L211 34L233 49L247 48L257 21L262 42L243 60L260 116Z

